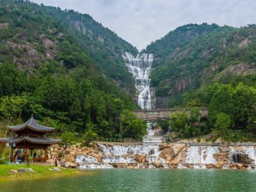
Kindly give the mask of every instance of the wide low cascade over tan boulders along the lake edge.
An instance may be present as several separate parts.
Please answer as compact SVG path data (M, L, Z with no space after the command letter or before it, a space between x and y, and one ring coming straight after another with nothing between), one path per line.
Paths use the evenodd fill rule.
M160 147L162 146L162 147ZM219 146L187 146L182 152L178 152L173 161L166 159L164 145L108 145L98 144L98 153L102 154L99 161L95 156L77 155L76 163L79 168L236 168L241 165L242 159L247 164L246 169L254 169L255 147L237 146L226 147L223 163L219 166L218 157L223 154L223 147ZM175 145L173 145L175 148ZM182 148L182 147L180 147ZM221 151L222 150L222 151ZM185 155L184 155L185 152ZM234 159L237 157L238 160ZM178 163L175 161L178 158ZM217 158L217 159L216 159ZM246 159L244 159L246 158ZM224 162L225 161L225 162ZM215 166L214 166L215 164Z

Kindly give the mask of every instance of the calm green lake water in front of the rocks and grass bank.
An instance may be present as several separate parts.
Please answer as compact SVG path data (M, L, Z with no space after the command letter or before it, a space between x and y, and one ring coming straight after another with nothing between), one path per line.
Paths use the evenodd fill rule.
M0 191L256 191L255 170L85 170L58 179L0 182Z

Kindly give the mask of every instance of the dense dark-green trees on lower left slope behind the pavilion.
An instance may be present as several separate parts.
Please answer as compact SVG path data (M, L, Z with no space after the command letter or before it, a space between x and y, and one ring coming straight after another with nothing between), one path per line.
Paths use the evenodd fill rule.
M12 68L15 75L21 74L13 65L2 66ZM72 74L63 72L56 75L56 69L53 69L53 75L49 75L42 73L42 68L39 68L33 76L24 75L17 82L19 86L25 87L21 91L13 87L17 95L12 95L13 91L4 92L7 96L1 97L0 115L8 124L17 124L22 121L21 118L25 120L33 113L42 124L56 127L59 133L71 131L81 134L92 130L101 138L117 139L121 111L135 109L137 106L104 77L93 73L90 76L101 79L99 81L94 80L94 77L83 77L80 70L73 71ZM15 82L12 78L0 80L0 84L5 82L6 85ZM131 134L135 138L142 137L144 132L136 132L138 126L141 126L141 122L134 120L131 124L132 131L129 133L126 129L126 136Z

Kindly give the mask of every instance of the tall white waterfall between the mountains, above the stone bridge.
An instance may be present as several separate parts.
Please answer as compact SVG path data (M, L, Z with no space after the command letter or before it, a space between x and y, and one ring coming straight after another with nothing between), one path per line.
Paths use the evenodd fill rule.
M123 55L126 67L135 79L135 88L139 92L138 104L142 109L151 109L150 71L153 63L153 54L138 54L136 58L125 52Z

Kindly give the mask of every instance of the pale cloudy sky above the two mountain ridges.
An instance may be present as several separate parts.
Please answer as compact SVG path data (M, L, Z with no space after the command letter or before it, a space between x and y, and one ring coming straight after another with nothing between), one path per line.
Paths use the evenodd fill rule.
M189 23L256 23L256 0L33 0L87 13L139 50Z

